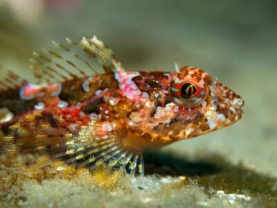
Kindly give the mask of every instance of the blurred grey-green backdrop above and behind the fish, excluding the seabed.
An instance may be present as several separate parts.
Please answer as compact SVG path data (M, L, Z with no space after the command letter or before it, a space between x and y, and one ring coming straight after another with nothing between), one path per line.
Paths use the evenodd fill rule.
M29 76L33 51L98 35L127 71L204 68L245 100L229 128L164 148L277 176L277 1L0 0L0 63ZM1 75L0 75L1 76Z

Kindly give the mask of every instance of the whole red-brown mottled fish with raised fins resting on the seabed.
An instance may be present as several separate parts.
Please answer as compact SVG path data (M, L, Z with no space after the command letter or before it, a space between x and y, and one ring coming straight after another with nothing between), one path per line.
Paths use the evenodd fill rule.
M125 71L96 36L53 44L34 53L35 84L1 69L3 168L93 171L105 164L143 175L143 150L242 117L242 98L202 69Z

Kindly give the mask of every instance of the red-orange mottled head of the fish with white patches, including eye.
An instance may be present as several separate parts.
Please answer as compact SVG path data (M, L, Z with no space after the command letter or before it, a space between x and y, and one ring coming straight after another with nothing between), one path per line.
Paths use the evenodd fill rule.
M149 94L150 101L139 114L144 116L140 128L152 140L197 137L242 118L241 96L202 69L182 67L177 72L141 74L143 78L134 78L134 82Z

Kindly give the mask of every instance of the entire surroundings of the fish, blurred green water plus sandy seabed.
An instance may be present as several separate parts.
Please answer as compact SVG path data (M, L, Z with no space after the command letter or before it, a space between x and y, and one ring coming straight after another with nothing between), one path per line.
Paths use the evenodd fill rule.
M30 81L33 51L98 35L127 71L201 67L245 101L235 125L145 153L140 184L98 187L86 175L12 184L0 170L0 207L277 207L276 8L269 0L0 0L0 64Z

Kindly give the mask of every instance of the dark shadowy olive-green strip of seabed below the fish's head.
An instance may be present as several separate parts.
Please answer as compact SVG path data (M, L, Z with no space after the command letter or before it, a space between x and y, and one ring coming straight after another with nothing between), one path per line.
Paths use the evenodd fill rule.
M186 175L211 194L222 190L256 198L262 207L277 206L277 179L228 162L222 155L186 159L178 155L150 151L145 153L146 174ZM214 190L214 191L211 191Z

